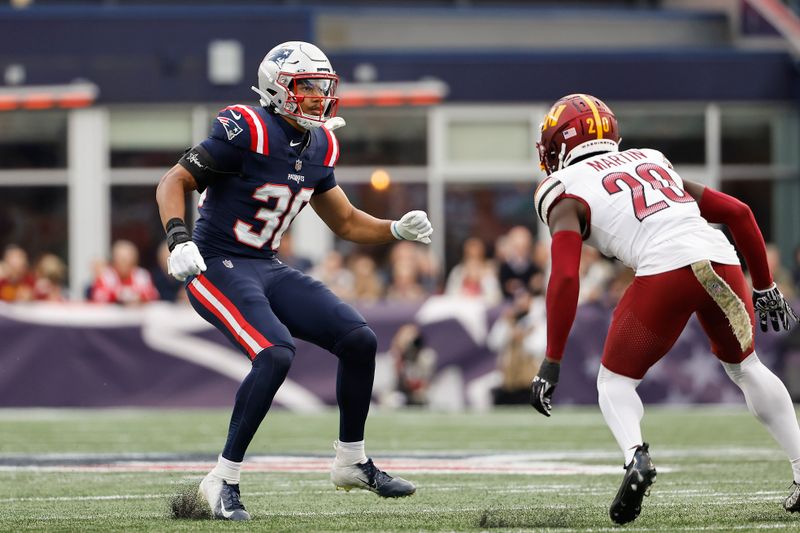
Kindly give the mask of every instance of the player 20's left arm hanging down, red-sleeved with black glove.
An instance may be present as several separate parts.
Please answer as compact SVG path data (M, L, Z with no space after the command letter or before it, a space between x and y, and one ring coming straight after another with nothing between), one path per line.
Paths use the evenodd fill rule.
M550 416L551 400L558 385L561 357L578 308L581 261L581 204L566 198L550 212L548 219L553 241L550 281L547 284L547 351L539 373L531 383L531 405Z

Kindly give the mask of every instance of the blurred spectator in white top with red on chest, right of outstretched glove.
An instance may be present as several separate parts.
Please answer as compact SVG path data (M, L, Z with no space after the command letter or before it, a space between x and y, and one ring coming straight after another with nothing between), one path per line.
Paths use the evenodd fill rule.
M464 241L461 262L450 271L445 294L480 298L487 305L502 299L494 265L486 259L486 246L476 237Z

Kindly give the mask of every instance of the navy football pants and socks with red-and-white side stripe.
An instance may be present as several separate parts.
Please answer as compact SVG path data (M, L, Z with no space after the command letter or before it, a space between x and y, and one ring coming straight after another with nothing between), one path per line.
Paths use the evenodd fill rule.
M192 307L253 362L236 393L223 457L241 461L294 357L293 337L339 358L339 440L364 438L377 339L358 311L278 260L206 257L186 290Z

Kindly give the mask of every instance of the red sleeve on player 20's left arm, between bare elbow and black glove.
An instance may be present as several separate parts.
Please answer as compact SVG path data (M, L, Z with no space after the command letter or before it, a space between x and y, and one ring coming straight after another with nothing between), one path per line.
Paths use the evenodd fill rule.
M569 330L578 308L583 239L575 231L558 231L553 235L550 254L553 258L547 284L547 352L548 359L560 361L564 355Z

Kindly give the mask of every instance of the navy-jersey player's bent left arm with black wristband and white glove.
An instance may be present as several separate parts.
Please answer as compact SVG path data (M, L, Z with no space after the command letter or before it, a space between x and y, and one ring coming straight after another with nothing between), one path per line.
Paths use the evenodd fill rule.
M197 189L194 177L181 165L175 165L161 178L156 189L156 202L161 214L161 223L167 232L169 273L178 281L184 281L205 271L206 264L197 245L192 242L184 223L186 216L186 194Z

